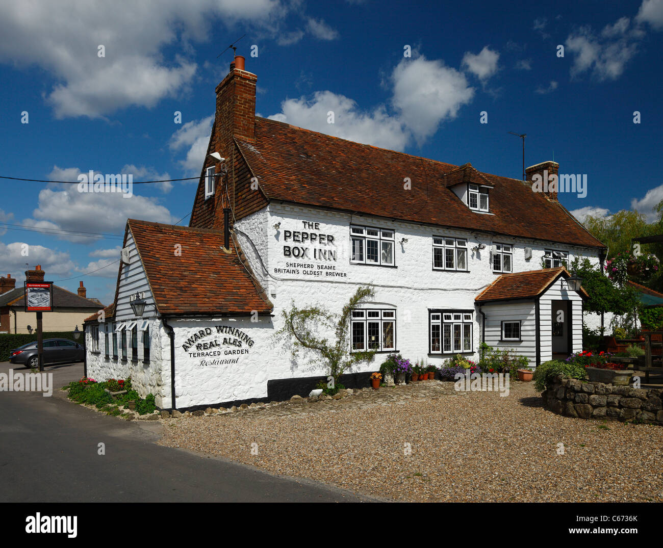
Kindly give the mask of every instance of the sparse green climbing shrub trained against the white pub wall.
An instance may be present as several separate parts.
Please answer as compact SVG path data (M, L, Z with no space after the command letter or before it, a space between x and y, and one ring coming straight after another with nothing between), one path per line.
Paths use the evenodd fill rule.
M339 316L318 306L300 309L293 301L290 310L282 311L283 327L274 333L274 337L290 344L293 359L300 351L313 355L314 363L324 366L337 384L345 371L359 362L372 360L375 355L375 350L351 353L349 340L353 309L373 297L373 288L360 287ZM333 341L328 339L329 333L334 334Z

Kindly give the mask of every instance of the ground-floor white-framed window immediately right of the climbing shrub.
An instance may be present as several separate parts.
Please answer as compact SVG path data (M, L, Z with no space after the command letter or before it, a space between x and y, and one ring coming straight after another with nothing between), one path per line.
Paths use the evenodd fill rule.
M350 324L352 351L396 349L395 310L353 310Z

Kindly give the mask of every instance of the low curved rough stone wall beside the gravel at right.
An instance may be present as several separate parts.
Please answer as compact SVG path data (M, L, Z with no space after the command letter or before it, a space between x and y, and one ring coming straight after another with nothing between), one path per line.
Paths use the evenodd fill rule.
M541 396L546 409L566 417L663 425L662 392L558 376Z

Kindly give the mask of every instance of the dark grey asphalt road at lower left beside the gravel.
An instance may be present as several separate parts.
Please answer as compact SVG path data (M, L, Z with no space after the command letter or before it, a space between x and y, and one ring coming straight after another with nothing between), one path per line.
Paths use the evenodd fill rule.
M14 368L0 363L0 373ZM15 372L30 372L15 368ZM82 364L46 367L56 387ZM0 392L0 502L370 502L309 480L155 445L160 423L126 422L65 399ZM105 455L97 454L99 443Z

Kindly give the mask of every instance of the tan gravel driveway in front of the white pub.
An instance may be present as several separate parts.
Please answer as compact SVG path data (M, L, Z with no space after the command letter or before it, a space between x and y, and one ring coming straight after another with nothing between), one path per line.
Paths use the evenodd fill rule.
M426 381L164 419L160 443L393 500L663 501L663 427L562 417L537 396Z

